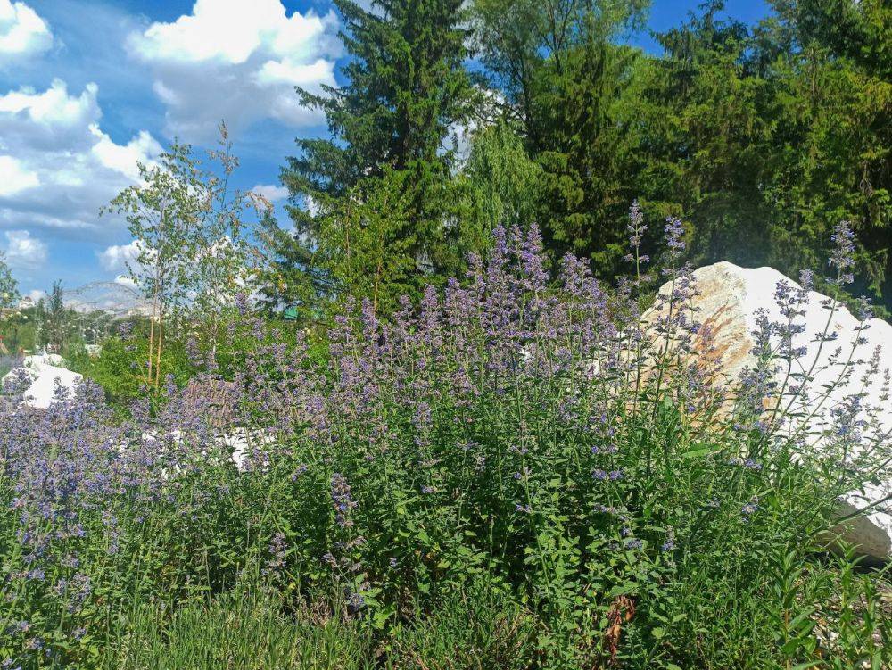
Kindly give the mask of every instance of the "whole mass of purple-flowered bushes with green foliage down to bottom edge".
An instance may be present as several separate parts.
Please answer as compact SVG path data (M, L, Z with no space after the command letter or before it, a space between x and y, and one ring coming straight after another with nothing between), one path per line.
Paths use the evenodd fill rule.
M689 267L642 315L632 219L618 290L512 228L420 304L347 305L321 360L240 315L219 345L240 361L225 412L176 385L123 421L92 385L46 411L0 400L0 658L151 666L141 636L189 644L196 608L216 623L189 634L228 630L221 603L248 584L275 594L277 635L316 621L380 667L890 662L884 575L814 558L888 443L853 399L822 458L803 450L797 392L775 381L789 324L764 325L739 384L716 376ZM677 260L683 227L665 232ZM319 658L290 662L348 666Z

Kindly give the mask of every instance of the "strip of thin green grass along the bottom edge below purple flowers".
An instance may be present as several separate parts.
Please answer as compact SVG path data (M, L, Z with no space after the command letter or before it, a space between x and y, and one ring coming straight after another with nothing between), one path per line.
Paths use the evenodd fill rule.
M102 655L111 670L528 667L534 621L504 595L472 586L377 636L343 601L289 602L261 581L168 611L143 604Z

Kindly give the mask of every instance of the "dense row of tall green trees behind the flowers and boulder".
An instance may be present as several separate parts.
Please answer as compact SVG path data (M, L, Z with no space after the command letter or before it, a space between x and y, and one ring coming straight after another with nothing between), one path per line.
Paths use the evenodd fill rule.
M265 221L271 309L377 310L460 273L497 224L543 230L549 255L627 268L638 200L690 224L695 265L820 265L830 228L858 237L852 292L892 308L892 9L772 0L747 25L706 2L628 44L648 0L335 0L342 87L298 91L330 139L282 172L293 228ZM659 267L659 258L655 258Z

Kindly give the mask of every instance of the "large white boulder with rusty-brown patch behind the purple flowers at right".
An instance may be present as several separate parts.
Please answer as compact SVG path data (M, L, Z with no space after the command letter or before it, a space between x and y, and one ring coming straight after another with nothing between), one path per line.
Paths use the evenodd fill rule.
M739 268L724 261L696 270L694 278L698 295L693 304L698 308L698 321L711 333L711 344L715 355L721 356L723 373L737 379L744 368L756 364L753 333L763 313L760 310L772 322L787 321L775 300L779 282L786 282L796 291L801 287L775 269ZM665 285L661 292L669 290ZM878 318L861 322L841 305L831 312L827 302L827 296L809 291L797 306L797 310L805 312L797 317L798 323L805 324L805 331L794 335L792 345L794 349L802 347L805 354L797 360L794 373L811 377L805 382L808 397L816 399L827 393L824 401L807 406L814 410L809 412L814 416L808 419L808 428L820 432L830 426L832 409L847 396L863 392L863 405L876 409L880 433L892 434L892 401L881 398L884 373L892 369L892 325ZM831 342L821 344L825 328L828 334L836 335ZM859 338L862 343L858 343ZM840 378L840 366L834 363L834 357L843 362L851 360L854 374ZM871 369L879 372L865 389L863 376ZM784 366L779 374L783 377L786 373ZM815 448L820 449L820 443ZM880 560L892 558L892 500L883 501L890 493L892 481L887 479L864 491L850 492L840 501L841 514L880 503L869 514L848 524L843 534L848 542L859 545L863 554Z

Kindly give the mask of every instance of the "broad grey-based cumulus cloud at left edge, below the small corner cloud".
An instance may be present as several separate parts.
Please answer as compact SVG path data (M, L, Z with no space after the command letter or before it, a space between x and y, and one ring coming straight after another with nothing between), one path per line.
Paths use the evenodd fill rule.
M99 125L98 90L87 84L71 94L55 79L44 91L0 94L0 227L101 238L114 225L99 210L161 145L145 131L123 145L112 140Z

